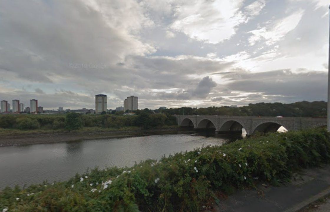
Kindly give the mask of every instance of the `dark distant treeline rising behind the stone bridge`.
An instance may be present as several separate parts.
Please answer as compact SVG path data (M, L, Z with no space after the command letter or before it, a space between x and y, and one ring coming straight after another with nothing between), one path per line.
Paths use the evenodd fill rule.
M327 103L296 102L282 103L257 103L242 107L206 107L206 108L169 108L158 109L157 112L175 115L234 115L234 116L285 116L285 117L326 117Z

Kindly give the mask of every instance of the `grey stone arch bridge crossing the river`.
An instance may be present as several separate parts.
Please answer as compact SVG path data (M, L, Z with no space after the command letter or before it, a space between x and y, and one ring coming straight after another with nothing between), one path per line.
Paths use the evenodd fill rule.
M256 132L276 132L281 126L288 131L327 125L326 118L296 117L255 117L255 116L218 116L218 115L176 115L178 125L197 129L215 129L216 133L242 131L247 135Z

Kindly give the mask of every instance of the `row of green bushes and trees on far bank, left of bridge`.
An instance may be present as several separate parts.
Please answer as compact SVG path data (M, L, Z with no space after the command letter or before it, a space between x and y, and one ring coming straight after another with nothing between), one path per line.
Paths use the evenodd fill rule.
M65 115L2 115L0 128L19 130L77 130L83 127L121 128L138 126L150 129L177 125L176 118L169 114L154 114L143 110L137 115L87 115L68 113Z

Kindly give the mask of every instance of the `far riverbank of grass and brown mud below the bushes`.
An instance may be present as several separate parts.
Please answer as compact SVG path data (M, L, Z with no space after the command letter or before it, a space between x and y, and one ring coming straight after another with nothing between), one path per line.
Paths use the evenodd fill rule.
M56 143L76 140L120 138L130 136L148 136L161 134L175 134L180 130L179 126L168 126L166 128L156 128L141 130L139 127L126 127L121 129L108 128L82 128L75 131L56 131L56 130L4 130L0 131L0 147L17 146L41 143Z

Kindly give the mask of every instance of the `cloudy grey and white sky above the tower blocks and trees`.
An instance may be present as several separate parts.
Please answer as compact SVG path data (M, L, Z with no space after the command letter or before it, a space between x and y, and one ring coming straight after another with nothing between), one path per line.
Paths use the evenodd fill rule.
M328 0L1 0L0 100L326 101Z

